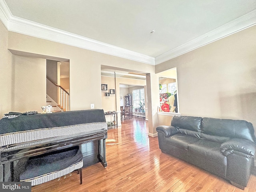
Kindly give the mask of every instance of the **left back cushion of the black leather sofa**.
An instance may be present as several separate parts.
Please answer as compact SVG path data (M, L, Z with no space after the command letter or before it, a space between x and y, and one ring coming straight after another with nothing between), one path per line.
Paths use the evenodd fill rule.
M178 128L179 132L182 134L200 138L201 121L202 117L173 116L171 126Z

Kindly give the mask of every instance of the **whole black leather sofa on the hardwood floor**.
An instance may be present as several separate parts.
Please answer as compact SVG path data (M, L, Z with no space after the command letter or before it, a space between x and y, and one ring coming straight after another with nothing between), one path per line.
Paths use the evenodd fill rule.
M159 148L244 189L254 166L256 138L244 120L174 116L158 126Z

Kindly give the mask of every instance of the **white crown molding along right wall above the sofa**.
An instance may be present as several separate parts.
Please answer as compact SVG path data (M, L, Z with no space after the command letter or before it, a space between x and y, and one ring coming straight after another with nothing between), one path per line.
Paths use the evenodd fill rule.
M251 27L256 24L256 10L253 10L243 16L232 20L198 38L195 38L185 44L178 46L160 56L155 58L155 64L160 64L182 54L185 54L189 51L192 51L196 48L200 48L206 44L244 30L248 27Z

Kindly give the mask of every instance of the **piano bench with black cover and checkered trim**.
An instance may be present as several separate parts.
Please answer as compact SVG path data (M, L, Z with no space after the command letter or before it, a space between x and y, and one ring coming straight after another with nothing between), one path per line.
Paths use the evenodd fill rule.
M78 146L58 150L29 158L20 181L31 182L31 186L54 180L78 170L82 184L83 154Z

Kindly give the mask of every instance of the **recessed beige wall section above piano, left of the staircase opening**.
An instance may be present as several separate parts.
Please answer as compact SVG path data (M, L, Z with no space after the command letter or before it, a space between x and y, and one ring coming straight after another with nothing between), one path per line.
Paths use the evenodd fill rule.
M12 57L15 111L42 112L41 106L46 105L46 60L18 55Z

